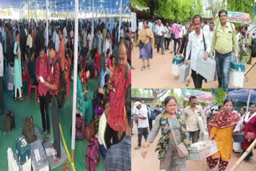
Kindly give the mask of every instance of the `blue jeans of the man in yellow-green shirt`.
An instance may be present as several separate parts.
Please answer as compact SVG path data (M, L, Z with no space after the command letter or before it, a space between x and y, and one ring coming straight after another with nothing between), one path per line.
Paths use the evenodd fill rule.
M222 89L227 89L230 82L230 64L231 64L231 53L222 55L215 51L215 61L218 72L218 85Z

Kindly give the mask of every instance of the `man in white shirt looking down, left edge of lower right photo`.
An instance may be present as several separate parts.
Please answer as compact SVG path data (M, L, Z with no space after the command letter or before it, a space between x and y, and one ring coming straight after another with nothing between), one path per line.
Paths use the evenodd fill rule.
M142 146L142 136L146 138L149 134L149 121L147 118L147 109L146 105L143 105L141 102L136 101L134 103L134 106L136 106L137 110L135 113L135 119L138 120L138 146L136 146L134 149L140 149Z

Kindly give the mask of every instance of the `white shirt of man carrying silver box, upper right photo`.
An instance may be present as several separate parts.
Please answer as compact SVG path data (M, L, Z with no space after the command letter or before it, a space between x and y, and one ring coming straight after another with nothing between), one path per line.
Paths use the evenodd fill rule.
M206 42L206 51L208 52L208 54L210 54L209 38L206 33L203 33L203 34ZM186 47L186 59L189 58L190 52L191 52L190 68L196 71L197 59L203 58L205 54L204 43L202 38L202 30L199 36L195 33L195 31L189 34L189 42Z

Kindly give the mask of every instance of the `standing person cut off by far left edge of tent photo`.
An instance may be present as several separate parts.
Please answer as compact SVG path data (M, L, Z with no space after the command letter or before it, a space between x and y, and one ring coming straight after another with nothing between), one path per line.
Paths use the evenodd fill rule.
M3 78L3 51L2 51L2 43L0 42L0 114L5 113L5 102L3 97L3 85L2 85L2 78Z

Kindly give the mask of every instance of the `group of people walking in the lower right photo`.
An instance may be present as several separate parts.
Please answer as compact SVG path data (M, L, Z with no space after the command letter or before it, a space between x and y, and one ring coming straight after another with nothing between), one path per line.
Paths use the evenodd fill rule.
M138 145L134 149L142 148L142 157L146 157L150 143L160 130L160 139L155 149L158 151L160 169L185 171L188 157L179 157L177 145L183 142L187 151L192 153L191 145L203 141L202 138L205 137L201 136L202 128L198 117L202 117L205 129L203 131L209 133L206 139L217 141L218 145L218 153L206 158L209 169L214 169L218 165L218 170L226 170L233 149L236 152L233 143L237 142L233 142L233 133L245 134L244 141L238 143L242 149L239 153L245 153L255 139L255 104L250 105L249 112L246 113L246 107L238 111L235 109L234 101L227 98L218 109L206 109L198 105L197 97L191 96L190 105L178 107L176 98L169 96L155 109L150 108L144 101L134 103L132 121L137 124L138 129ZM150 123L152 119L153 126ZM254 137L247 137L248 134ZM145 138L145 145L142 145L142 137ZM252 156L251 151L244 161L249 161Z

